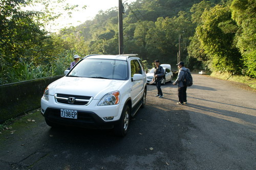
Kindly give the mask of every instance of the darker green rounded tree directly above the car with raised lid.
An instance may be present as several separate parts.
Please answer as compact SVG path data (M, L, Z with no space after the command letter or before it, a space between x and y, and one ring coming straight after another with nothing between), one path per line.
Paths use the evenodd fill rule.
M147 34L148 54L153 54L152 59L158 58L162 63L176 63L180 35L182 37L181 51L185 60L189 37L194 32L195 26L188 19L187 13L183 11L179 12L178 17L159 17L155 22L155 27L151 27Z

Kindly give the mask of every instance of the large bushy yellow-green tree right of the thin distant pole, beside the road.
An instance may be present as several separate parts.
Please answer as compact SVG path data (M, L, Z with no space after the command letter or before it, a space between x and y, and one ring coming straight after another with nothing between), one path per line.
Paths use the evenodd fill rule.
M225 23L233 26L228 7L217 5L202 15L202 25L197 27L199 40L205 53L210 57L211 70L241 71L241 54L233 45L234 32L225 28ZM232 30L232 29L231 29Z

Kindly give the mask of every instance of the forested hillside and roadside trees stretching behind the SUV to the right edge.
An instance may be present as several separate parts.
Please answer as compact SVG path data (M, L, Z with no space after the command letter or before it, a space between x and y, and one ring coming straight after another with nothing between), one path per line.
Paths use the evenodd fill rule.
M255 77L255 1L141 0L124 6L124 53L175 68L181 36L181 60L190 69ZM77 28L89 53L118 53L117 12L101 12Z

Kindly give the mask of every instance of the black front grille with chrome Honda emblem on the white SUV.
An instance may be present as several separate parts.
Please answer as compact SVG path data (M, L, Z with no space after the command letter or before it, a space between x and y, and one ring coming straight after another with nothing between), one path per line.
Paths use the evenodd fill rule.
M56 93L55 101L57 103L63 103L68 105L88 105L92 100L92 96L82 96L82 95L70 95L70 94L59 94Z

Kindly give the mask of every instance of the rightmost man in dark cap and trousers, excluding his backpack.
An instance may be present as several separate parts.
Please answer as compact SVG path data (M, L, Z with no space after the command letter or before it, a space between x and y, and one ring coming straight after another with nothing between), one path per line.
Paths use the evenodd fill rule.
M184 77L185 77L185 71L189 71L188 68L186 68L184 66L184 62L181 61L178 64L179 67L179 74L178 74L178 78L176 79L176 81L173 83L174 85L178 85L178 97L179 97L179 102L177 102L178 105L183 105L187 103L187 86L184 85L183 81L184 81ZM183 70L183 71L182 71Z

